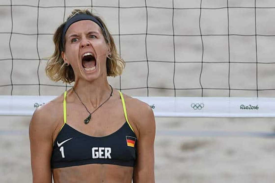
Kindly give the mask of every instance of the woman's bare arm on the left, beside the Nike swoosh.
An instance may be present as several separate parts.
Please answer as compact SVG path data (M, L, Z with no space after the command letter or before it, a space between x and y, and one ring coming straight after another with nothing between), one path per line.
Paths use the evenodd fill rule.
M39 107L34 112L29 125L33 183L52 182L50 161L53 131L49 116L51 116L49 112Z

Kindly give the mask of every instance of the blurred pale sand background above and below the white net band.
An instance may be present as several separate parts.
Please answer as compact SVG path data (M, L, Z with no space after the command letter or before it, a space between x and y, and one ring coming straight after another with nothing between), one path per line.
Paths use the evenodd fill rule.
M200 2L204 8L201 12ZM257 86L259 97L274 97L275 1L256 1L256 6L262 7L256 9L256 31L261 35L257 36L257 54L255 1L229 0L228 3L231 8L227 14L226 0L66 0L65 9L64 1L2 0L0 95L64 92L63 83L46 78L46 60L39 59L53 52L52 34L63 22L64 13L67 17L76 6L94 6L93 11L106 21L127 62L122 77L109 78L111 85L125 94L147 96L148 67L148 95L174 96L175 61L176 96L200 97L203 40L204 97L228 97L229 83L232 97L256 97ZM122 8L117 8L118 5ZM176 9L173 11L172 7ZM228 31L232 34L229 42ZM230 64L229 55L233 62ZM32 181L30 119L30 116L0 116L0 182ZM251 135L274 133L274 119L156 118L156 125L156 182L274 182L274 136ZM167 134L173 130L180 133ZM227 132L231 135L221 135Z

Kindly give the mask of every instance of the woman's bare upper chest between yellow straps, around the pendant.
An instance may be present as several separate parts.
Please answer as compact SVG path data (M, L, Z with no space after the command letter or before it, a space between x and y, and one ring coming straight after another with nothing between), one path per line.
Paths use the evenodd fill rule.
M117 131L126 121L120 102L110 102L98 109L88 109L91 118L87 124L84 120L89 112L82 104L67 104L67 124L84 134L102 137ZM95 111L94 111L95 110ZM94 112L93 112L94 111Z

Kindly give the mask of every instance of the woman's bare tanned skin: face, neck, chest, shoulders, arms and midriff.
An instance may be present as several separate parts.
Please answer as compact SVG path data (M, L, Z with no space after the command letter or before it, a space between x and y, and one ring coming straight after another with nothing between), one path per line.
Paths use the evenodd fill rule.
M91 33L92 32L92 33ZM74 70L75 89L81 100L94 111L110 96L106 77L106 44L100 27L89 20L72 24L66 33L66 51L62 58ZM83 69L81 55L93 52L96 69ZM149 105L124 95L128 120L137 137L137 160L134 167L109 164L88 164L51 169L50 160L53 142L63 126L63 94L36 109L29 125L31 165L33 182L110 182L110 183L152 183L154 179L155 119ZM92 115L88 124L83 120L89 115L72 89L67 92L67 124L89 136L103 137L117 131L126 121L119 92Z

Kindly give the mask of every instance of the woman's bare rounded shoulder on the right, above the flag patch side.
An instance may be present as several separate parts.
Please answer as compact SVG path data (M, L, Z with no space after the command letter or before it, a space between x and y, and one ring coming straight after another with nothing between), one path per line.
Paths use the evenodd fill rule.
M150 105L137 98L123 94L127 106L129 121L133 122L138 133L144 130L155 130L155 116Z

